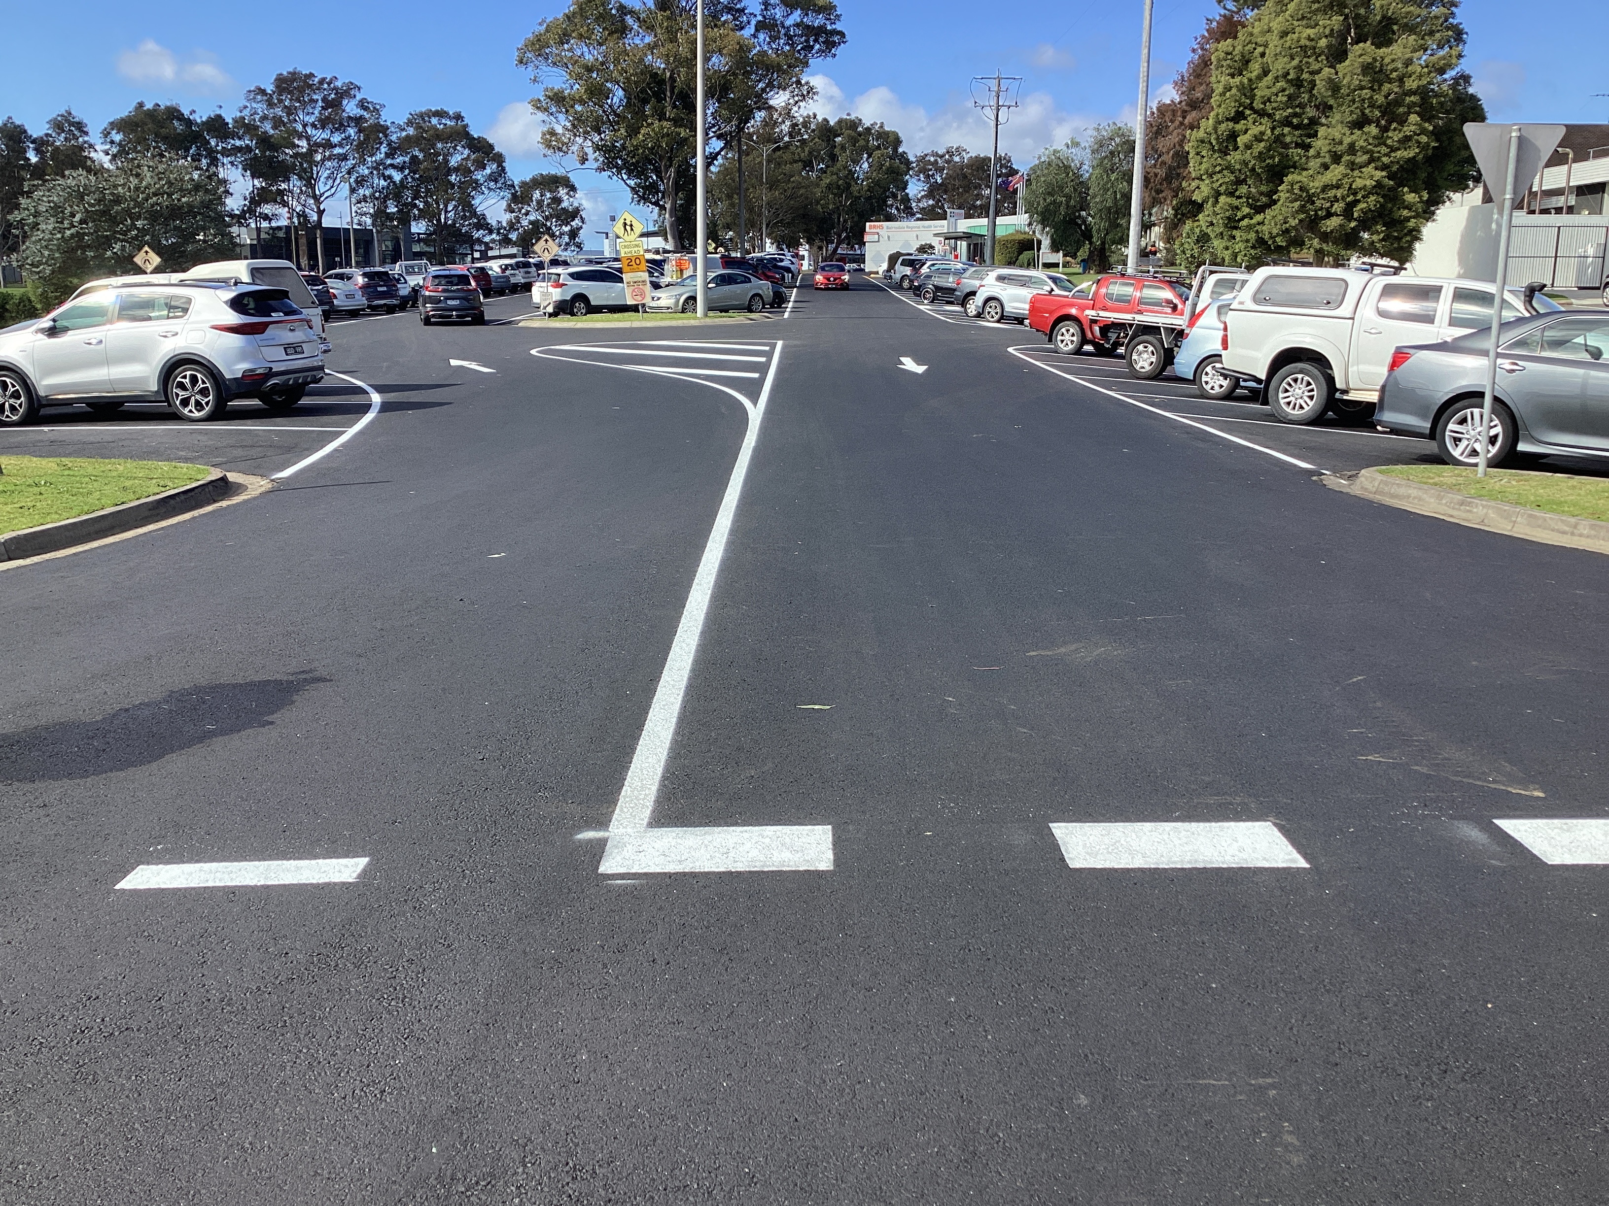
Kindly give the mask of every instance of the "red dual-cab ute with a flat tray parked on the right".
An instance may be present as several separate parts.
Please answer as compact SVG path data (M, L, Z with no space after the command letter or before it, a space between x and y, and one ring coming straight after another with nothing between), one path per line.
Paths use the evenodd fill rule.
M1142 381L1162 375L1184 336L1184 285L1168 278L1113 272L1089 289L1039 293L1028 325L1056 351L1076 355L1089 346L1105 355L1121 352L1130 375Z

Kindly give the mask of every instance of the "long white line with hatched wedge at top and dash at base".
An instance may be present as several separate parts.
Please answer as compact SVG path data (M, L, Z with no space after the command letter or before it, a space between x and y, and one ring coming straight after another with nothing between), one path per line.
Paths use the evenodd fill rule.
M756 355L758 354L758 355ZM634 341L619 344L560 344L533 347L531 355L544 360L570 360L605 368L624 368L632 373L674 376L681 381L706 386L737 399L748 416L748 429L732 465L726 495L714 516L714 527L705 544L693 589L676 626L671 654L665 672L648 704L648 719L637 738L637 749L619 790L615 815L608 825L608 844L599 863L599 875L645 875L666 872L830 872L830 825L706 825L697 828L648 828L653 801L660 791L665 764L671 754L671 738L687 695L698 638L703 634L710 600L714 595L716 576L721 572L721 556L732 534L732 518L743 492L743 478L759 439L759 421L766 415L766 400L777 376L782 344L727 344L689 339ZM766 363L769 360L769 365ZM705 368L702 362L714 362L721 368ZM737 368L729 365L755 365ZM750 378L764 381L759 394L750 399L724 381L708 378ZM579 836L592 836L579 835Z

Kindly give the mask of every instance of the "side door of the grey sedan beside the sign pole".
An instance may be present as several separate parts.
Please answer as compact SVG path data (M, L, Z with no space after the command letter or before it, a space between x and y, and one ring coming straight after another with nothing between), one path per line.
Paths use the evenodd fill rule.
M1609 450L1609 315L1532 328L1500 349L1498 381L1535 439Z

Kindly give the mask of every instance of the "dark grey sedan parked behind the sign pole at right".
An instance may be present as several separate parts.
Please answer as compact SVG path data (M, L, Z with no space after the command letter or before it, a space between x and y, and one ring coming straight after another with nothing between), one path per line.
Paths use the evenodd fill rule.
M1514 452L1609 460L1609 310L1512 318L1498 339L1487 463ZM1488 347L1490 328L1397 347L1376 425L1435 439L1448 465L1475 465Z

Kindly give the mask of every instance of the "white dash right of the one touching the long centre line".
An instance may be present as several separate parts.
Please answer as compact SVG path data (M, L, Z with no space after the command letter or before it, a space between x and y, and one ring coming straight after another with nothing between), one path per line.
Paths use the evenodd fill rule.
M1266 820L1051 825L1075 868L1307 867Z

